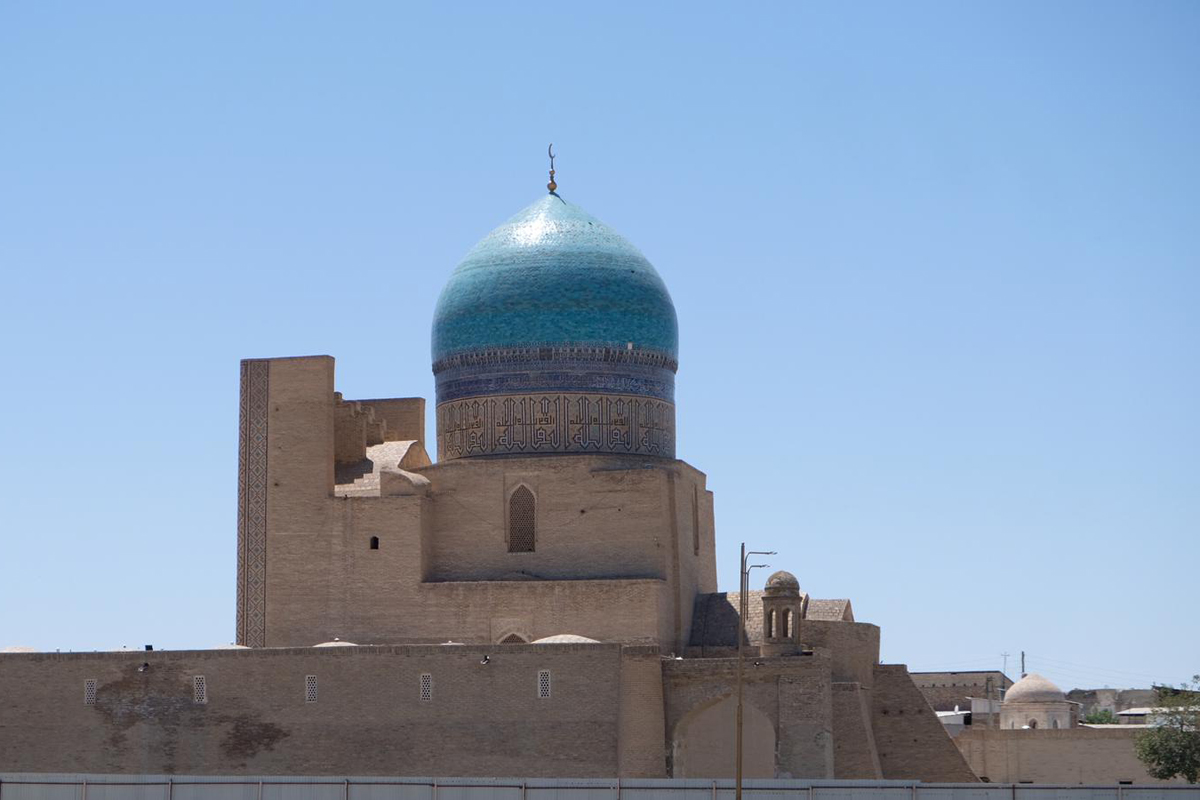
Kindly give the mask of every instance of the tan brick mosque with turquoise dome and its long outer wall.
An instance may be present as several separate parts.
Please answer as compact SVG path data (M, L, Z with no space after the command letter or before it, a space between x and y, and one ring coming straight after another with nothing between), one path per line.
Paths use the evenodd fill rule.
M437 462L424 399L241 363L238 646L0 655L0 771L732 776L674 308L554 188L442 293ZM776 572L748 606L748 777L976 780L848 601Z

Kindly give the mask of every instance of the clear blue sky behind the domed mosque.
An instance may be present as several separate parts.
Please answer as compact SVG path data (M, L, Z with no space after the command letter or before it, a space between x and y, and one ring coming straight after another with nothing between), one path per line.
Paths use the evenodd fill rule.
M1200 672L1200 5L504 5L0 6L0 646L229 642L239 360L432 397L553 140L671 288L722 588Z

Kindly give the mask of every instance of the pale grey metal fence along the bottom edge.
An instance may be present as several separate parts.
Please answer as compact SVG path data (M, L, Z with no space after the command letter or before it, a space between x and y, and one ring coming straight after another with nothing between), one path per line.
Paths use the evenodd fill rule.
M746 800L1200 800L1189 786L745 781ZM733 781L0 774L0 800L734 800Z

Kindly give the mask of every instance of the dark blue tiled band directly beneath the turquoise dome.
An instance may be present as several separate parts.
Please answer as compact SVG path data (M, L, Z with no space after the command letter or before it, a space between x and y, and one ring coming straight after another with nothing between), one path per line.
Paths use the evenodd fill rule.
M488 395L581 392L674 402L674 359L616 348L544 347L482 350L433 365L438 403Z

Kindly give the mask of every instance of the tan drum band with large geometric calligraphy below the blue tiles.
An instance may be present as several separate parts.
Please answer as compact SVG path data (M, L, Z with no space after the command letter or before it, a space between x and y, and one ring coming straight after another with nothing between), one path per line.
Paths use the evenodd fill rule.
M438 404L438 458L614 452L674 458L674 404L582 393L475 397Z

